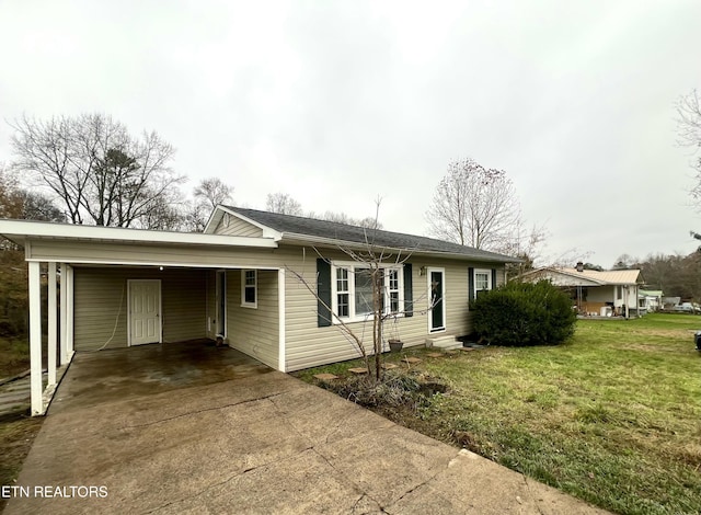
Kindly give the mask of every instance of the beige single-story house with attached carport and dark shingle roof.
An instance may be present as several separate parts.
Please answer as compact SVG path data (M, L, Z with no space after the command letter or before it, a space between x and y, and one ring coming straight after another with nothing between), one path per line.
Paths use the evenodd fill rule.
M73 351L221 335L281 371L357 357L326 307L365 332L371 351L371 327L361 327L370 286L363 263L342 250L357 252L367 241L384 255L386 311L397 313L391 329L405 345L469 333L469 300L502 284L505 264L518 261L430 238L228 206L215 209L204 233L0 220L0 234L24 245L28 262L35 414L46 409L39 282L46 263L49 288L60 283L48 293L50 393L57 365L67 365ZM57 347L58 364L51 363Z

